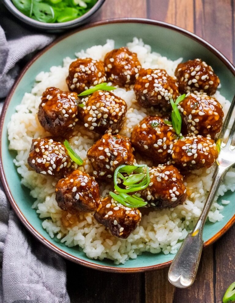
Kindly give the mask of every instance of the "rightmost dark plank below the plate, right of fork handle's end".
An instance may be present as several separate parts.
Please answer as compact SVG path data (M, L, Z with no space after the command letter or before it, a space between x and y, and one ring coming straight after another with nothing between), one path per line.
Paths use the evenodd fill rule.
M235 225L214 244L215 297L218 302L222 300L227 287L235 281L234 243Z

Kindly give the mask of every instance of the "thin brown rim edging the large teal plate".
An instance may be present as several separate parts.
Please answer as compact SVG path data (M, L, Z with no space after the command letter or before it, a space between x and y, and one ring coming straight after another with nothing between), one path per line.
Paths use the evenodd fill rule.
M155 270L155 269L168 267L168 266L170 266L172 260L164 262L164 263L156 264L156 265L145 266L145 267L133 267L133 268L121 267L121 268L118 268L118 267L113 267L113 266L95 264L95 263L92 263L92 261L90 262L90 261L80 259L78 257L74 257L73 255L63 251L59 247L57 247L54 244L52 244L51 242L49 242L49 240L45 239L27 221L27 219L24 217L23 213L19 209L19 207L18 207L16 201L13 199L13 196L12 196L11 191L9 189L8 182L6 180L6 176L5 176L5 173L4 173L4 170L3 170L3 166L2 166L2 160L3 160L2 159L2 136L3 136L3 122L4 122L4 119L5 119L5 115L6 115L6 110L8 108L11 97L12 97L18 83L20 82L21 78L23 77L25 72L28 70L28 68L40 56L42 56L45 52L47 52L48 49L50 49L52 46L57 44L59 41L67 38L68 36L73 35L74 33L83 31L83 30L88 29L88 28L92 28L92 27L96 27L96 26L100 26L100 25L107 25L107 24L110 24L110 23L144 23L144 24L157 25L157 26L160 26L160 27L175 30L175 31L177 31L177 32L179 32L179 33L181 33L185 36L188 36L192 40L196 40L197 42L202 44L204 47L209 49L209 51L211 51L215 56L217 56L218 59L220 59L226 65L226 67L232 72L232 74L235 76L235 67L233 66L233 64L221 52L219 52L214 46L212 46L210 43L208 43L207 41L205 41L201 37L195 35L194 33L189 32L188 30L182 29L182 28L180 28L176 25L171 25L171 24L163 22L163 21L156 21L156 20L151 20L151 19L146 19L146 18L115 18L115 19L106 19L106 20L103 20L103 21L90 23L88 25L85 25L85 26L81 27L80 29L73 30L70 33L67 33L67 34L57 38L56 40L54 40L50 45L48 45L46 48L41 50L37 55L35 55L27 63L27 65L24 67L24 69L19 74L17 80L15 81L15 83L14 83L14 85L13 85L13 87L12 87L10 93L9 93L9 95L7 96L7 98L4 102L3 109L2 109L2 114L1 114L1 118L0 118L0 146L1 146L1 151L0 151L0 160L1 160L0 161L0 178L2 180L2 185L3 185L3 188L6 192L7 198L9 200L10 204L11 204L11 207L14 209L15 213L17 214L17 217L24 224L24 226L28 229L28 231L31 232L31 234L33 236L35 236L41 243L43 243L44 245L49 247L52 251L58 253L59 255L64 257L65 259L68 259L70 261L73 261L75 263L78 263L80 265L84 265L86 267L90 267L90 268L93 268L93 269L98 269L98 270L103 270L103 271L108 271L108 272L117 272L117 273L145 272L145 271L149 271L149 270ZM233 217L227 222L227 224L219 232L217 232L209 240L204 242L203 247L206 247L206 246L214 243L216 240L218 240L234 223L235 223L235 214L233 215Z

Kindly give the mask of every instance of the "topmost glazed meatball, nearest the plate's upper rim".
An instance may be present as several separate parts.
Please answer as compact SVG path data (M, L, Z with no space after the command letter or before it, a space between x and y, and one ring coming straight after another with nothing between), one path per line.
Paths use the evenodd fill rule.
M127 47L121 47L106 54L104 68L108 80L125 86L134 84L141 65L136 53L130 52Z

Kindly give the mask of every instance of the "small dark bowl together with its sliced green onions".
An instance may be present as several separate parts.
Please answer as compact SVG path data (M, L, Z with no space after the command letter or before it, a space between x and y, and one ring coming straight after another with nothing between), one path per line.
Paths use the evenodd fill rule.
M37 29L61 32L82 25L105 0L3 0L19 20Z

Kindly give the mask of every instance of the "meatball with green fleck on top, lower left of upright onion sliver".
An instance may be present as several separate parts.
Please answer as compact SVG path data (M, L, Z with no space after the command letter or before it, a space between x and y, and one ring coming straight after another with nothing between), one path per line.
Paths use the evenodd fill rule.
M170 148L176 138L172 126L157 116L145 117L131 133L131 143L136 151L155 163L166 163L170 159Z

